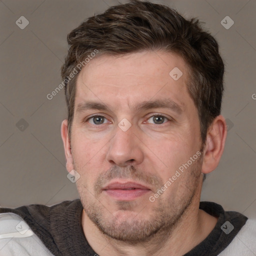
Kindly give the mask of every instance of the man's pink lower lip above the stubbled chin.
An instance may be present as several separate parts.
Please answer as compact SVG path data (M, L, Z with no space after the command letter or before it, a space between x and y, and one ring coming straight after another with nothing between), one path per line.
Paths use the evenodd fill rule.
M138 198L141 195L144 195L145 193L149 192L149 189L141 189L141 188L135 188L135 189L107 189L104 190L108 195L110 195L115 200L122 200L122 201L130 201Z

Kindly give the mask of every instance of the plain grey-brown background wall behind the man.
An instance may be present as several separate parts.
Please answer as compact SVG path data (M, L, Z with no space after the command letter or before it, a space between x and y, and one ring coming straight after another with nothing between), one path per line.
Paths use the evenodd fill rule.
M201 200L256 217L256 100L252 98L256 93L256 1L154 2L204 21L219 42L226 65L222 114L229 130L221 161L204 181ZM67 33L86 17L117 3L0 1L0 206L52 205L78 197L75 184L66 177L60 137L60 123L66 117L64 90L51 100L46 95L61 82ZM20 16L29 21L24 29L15 23ZM220 23L225 16L234 21L229 29Z

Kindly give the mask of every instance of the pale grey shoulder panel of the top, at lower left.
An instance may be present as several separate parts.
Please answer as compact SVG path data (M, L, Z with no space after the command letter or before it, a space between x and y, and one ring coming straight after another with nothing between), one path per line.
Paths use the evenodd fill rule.
M50 256L53 254L19 215L5 212L0 213L0 255Z

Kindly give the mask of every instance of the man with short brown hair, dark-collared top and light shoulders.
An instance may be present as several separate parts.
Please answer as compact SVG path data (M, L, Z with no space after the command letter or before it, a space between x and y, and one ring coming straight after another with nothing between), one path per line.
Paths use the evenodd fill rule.
M61 136L80 199L0 209L0 255L256 255L255 222L199 201L227 132L215 39L135 0L67 41Z

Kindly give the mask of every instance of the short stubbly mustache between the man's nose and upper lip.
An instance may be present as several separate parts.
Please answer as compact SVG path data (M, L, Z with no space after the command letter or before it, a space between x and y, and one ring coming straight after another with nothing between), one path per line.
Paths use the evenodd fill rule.
M119 167L112 166L107 171L104 171L98 175L98 178L94 184L94 189L97 193L100 192L108 182L114 178L132 179L133 181L143 182L150 186L161 187L162 179L156 175L150 175L150 173L141 169L135 168L133 165Z

